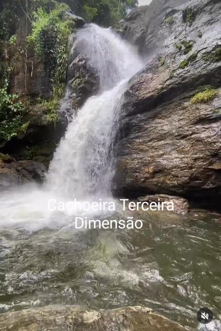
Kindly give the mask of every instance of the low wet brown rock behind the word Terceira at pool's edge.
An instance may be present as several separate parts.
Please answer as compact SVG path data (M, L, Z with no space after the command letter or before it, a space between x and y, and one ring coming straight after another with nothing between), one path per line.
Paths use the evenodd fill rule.
M181 197L174 197L166 194L155 194L155 195L145 195L144 197L138 197L138 201L151 202L173 202L174 213L185 215L190 212L190 204L187 199Z

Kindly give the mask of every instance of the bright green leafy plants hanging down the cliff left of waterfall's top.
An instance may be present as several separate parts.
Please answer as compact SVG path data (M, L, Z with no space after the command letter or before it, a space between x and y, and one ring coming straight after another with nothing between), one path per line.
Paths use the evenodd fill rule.
M65 4L56 4L49 13L38 8L33 12L35 22L32 34L28 37L28 41L34 45L36 56L43 61L45 68L52 70L54 93L59 97L62 96L66 84L69 35L73 31L73 22L63 19L68 9Z

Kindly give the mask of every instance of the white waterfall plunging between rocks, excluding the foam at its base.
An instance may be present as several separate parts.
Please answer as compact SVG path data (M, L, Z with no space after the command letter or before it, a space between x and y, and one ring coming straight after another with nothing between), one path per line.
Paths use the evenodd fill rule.
M47 182L52 191L65 197L108 196L122 95L142 64L135 50L111 29L90 24L80 31L76 43L97 71L100 90L69 124L55 152Z

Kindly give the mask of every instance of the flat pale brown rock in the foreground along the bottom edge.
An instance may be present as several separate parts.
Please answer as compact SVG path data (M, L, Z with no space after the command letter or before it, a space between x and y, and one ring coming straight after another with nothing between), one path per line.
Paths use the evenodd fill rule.
M100 313L73 306L48 306L0 315L2 331L180 331L179 324L143 307Z

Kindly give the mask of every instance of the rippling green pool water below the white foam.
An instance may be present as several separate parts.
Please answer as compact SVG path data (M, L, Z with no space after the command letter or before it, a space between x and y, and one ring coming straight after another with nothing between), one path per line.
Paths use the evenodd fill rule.
M219 320L220 216L137 216L140 230L0 229L0 312L144 305L195 329L208 307Z

